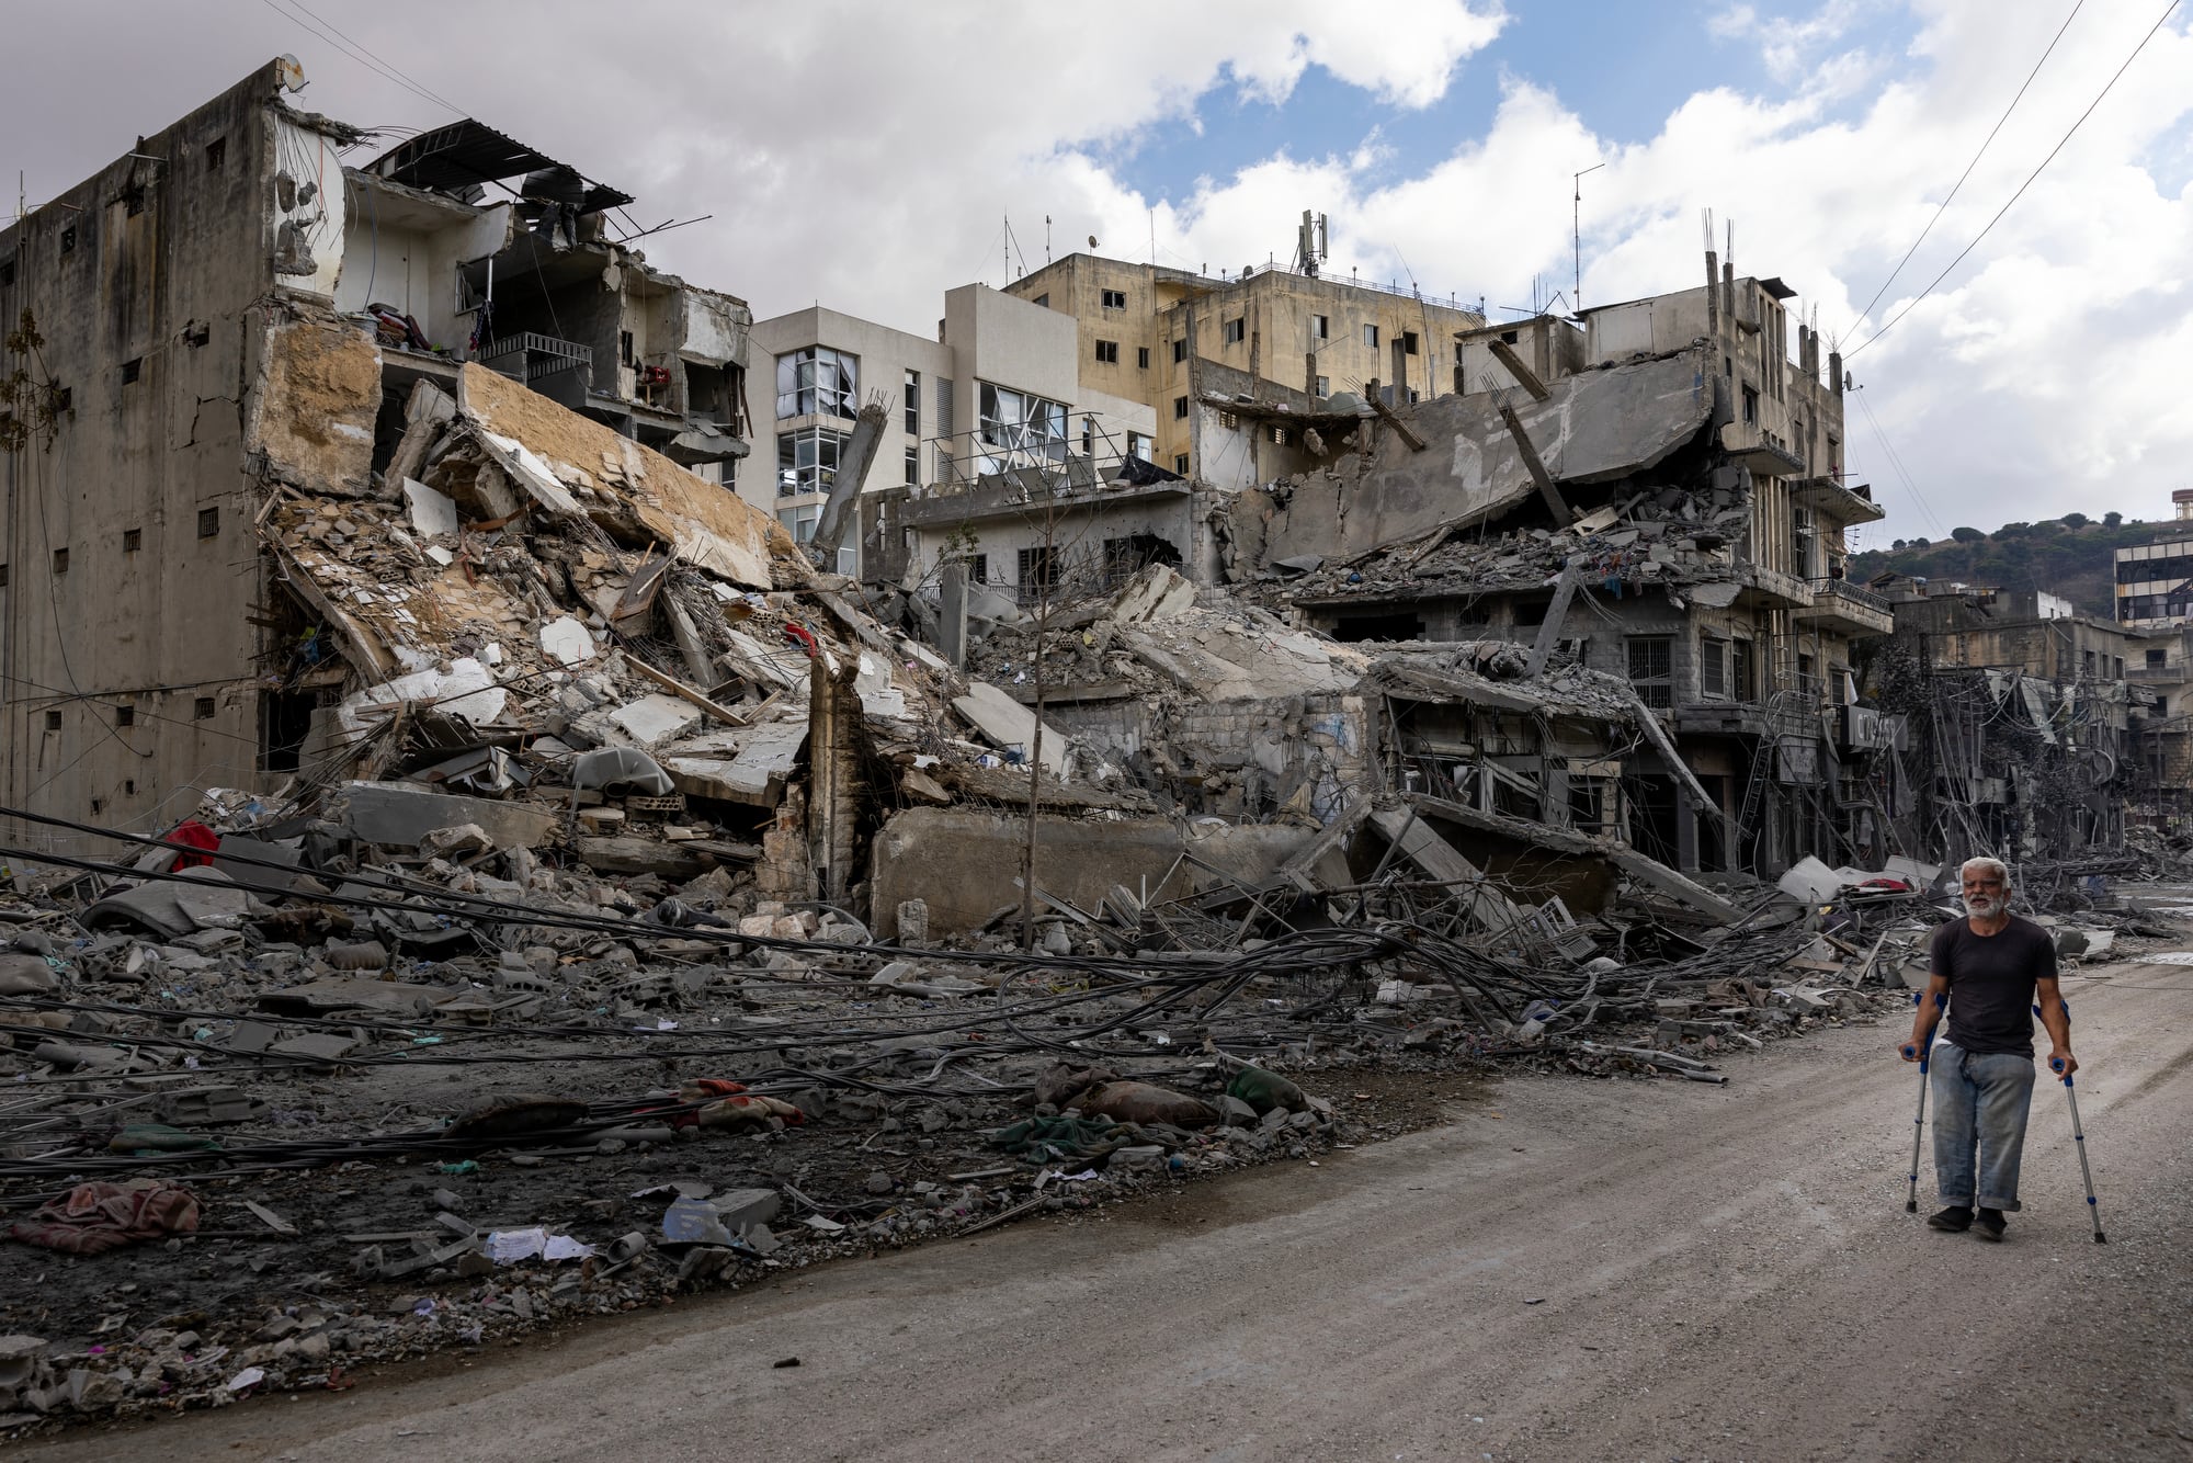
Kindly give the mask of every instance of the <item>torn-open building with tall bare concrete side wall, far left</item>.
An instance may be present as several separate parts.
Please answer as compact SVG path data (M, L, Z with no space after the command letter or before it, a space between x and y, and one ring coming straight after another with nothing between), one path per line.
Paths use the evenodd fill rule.
M0 233L9 805L154 827L292 776L344 669L259 529L399 489L465 362L708 476L746 452L750 314L618 243L629 195L476 121L353 165L300 81L257 70Z

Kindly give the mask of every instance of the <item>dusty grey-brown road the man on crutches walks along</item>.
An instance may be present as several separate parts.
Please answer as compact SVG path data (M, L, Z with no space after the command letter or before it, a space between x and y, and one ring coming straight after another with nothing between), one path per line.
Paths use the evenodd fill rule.
M24 1454L2189 1459L2193 967L2066 996L2107 1246L2055 1084L2009 1244L1908 1217L1882 1024L1728 1088L1509 1081L1316 1169Z

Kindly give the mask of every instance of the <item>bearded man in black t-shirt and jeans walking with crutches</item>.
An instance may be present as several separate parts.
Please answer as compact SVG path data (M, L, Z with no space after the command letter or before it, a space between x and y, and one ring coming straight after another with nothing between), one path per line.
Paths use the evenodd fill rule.
M2002 1239L2004 1211L2018 1209L2018 1158L2033 1101L2033 1005L2048 1029L2048 1066L2070 1077L2070 1013L2057 989L2055 941L2011 915L2011 871L1996 858L1967 860L1965 919L1934 930L1928 987L1912 1016L1904 1059L1928 1055L1941 1000L1950 1035L1932 1053L1934 1184L1943 1209L1932 1228ZM1974 1215L1978 1209L1978 1217Z

